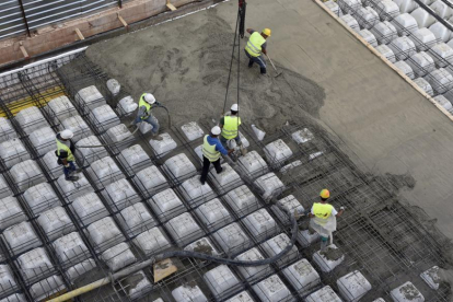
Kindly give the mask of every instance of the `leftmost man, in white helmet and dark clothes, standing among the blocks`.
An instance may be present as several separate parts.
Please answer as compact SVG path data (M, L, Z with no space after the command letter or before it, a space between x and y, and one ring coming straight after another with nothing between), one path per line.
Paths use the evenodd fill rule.
M71 138L74 133L69 130L65 129L61 132L57 133L57 151L55 154L58 156L58 164L63 166L65 179L68 182L76 182L79 179L78 176L73 175L77 172L76 169L76 147L71 141Z

